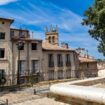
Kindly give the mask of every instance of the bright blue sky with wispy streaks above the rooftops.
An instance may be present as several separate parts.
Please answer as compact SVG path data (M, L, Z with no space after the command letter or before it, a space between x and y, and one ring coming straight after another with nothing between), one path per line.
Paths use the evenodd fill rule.
M84 11L94 0L0 0L0 16L15 19L12 27L29 29L35 38L44 39L44 27L58 25L59 42L71 48L86 48L96 58L104 58L97 51L98 42L81 25Z

